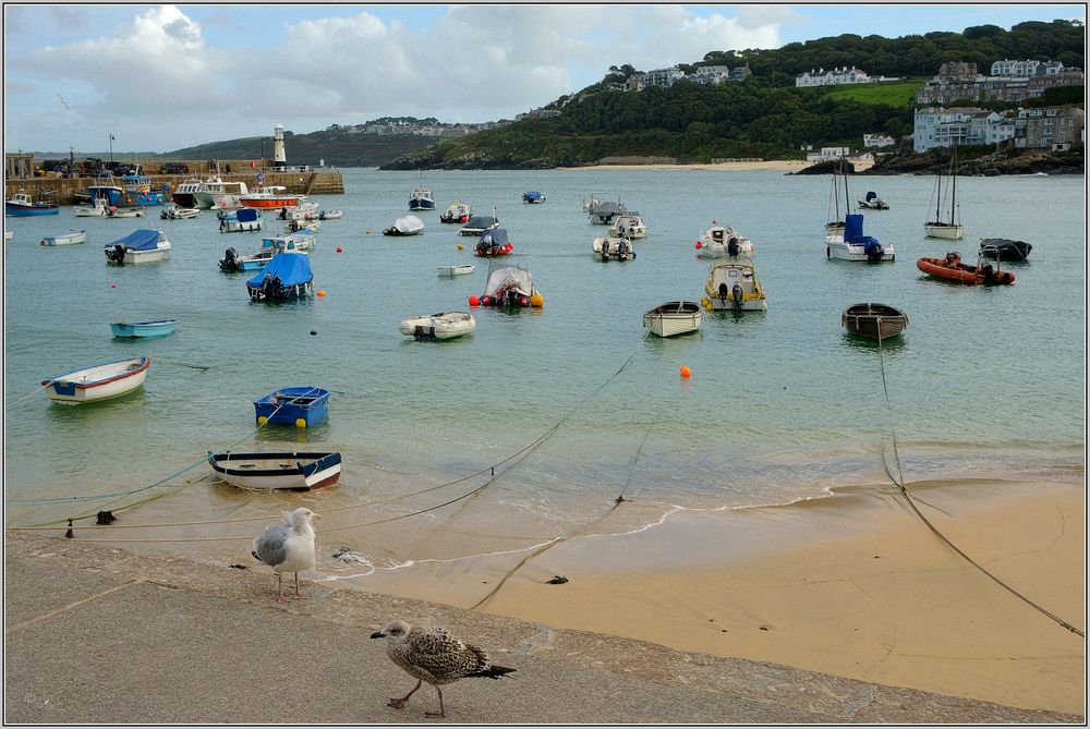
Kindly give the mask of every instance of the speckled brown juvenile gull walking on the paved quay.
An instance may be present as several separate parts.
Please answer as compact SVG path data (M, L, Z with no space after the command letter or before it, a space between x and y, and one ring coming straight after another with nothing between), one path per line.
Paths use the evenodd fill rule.
M386 655L409 676L416 679L416 685L401 698L391 698L389 706L404 708L409 696L416 692L421 683L427 681L439 694L439 712L426 712L425 716L441 718L447 715L443 706L440 685L453 683L458 679L480 676L498 679L510 673L513 668L493 666L484 651L463 643L443 628L419 628L401 620L395 620L372 637L385 637Z

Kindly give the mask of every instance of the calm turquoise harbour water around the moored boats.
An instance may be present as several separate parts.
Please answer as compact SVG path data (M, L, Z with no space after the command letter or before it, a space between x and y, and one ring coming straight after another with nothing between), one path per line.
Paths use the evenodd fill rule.
M439 542L444 554L536 544L593 522L619 494L662 505L621 520L621 528L639 528L665 505L783 503L885 484L894 429L909 482L1082 477L1083 178L960 180L967 238L957 243L923 236L932 178L855 178L852 201L874 190L892 206L865 212L867 234L896 246L896 262L882 265L826 260L827 177L552 170L428 172L424 181L437 206L416 214L426 232L385 238L380 231L408 212L416 173L344 170L346 194L319 201L344 218L323 223L312 254L316 288L327 295L284 305L251 303L249 275L219 271L225 248L254 246L259 234L221 234L208 211L193 220L160 220L160 208L135 221L75 218L70 209L7 218L15 232L4 257L7 498L134 489L232 446L336 449L346 470L335 488L249 494L213 483L201 464L166 486L185 488L124 521L246 518L306 503L332 512L319 532L336 532L330 538L372 562L403 563L435 557ZM523 205L529 190L547 202ZM592 258L591 241L605 230L581 209L592 192L619 193L643 216L650 233L637 241L635 260ZM470 253L474 239L438 222L453 199L482 215L497 207L514 244L500 263L529 268L545 305L481 307L473 335L413 341L398 332L401 318L469 311L467 297L484 289L488 262ZM753 241L768 311L712 314L698 335L645 338L644 311L703 295L708 263L693 243L713 218ZM38 245L73 227L88 230L87 244ZM164 230L169 260L107 266L102 246L136 228ZM982 236L1033 244L1029 263L1009 265L1014 285L958 287L916 268L918 257L948 250L973 260ZM456 263L476 270L436 276L436 266ZM840 326L841 311L865 301L909 315L903 340L881 353ZM158 317L177 318L177 332L147 342L110 336L110 321ZM49 375L137 354L153 360L138 393L78 408L41 392L20 400ZM681 365L690 379L679 377ZM300 385L334 391L328 423L254 434L253 400ZM484 479L407 496L500 463L558 422L473 498L392 526L353 526L469 493ZM102 503L9 503L7 523ZM252 535L259 525L197 533ZM141 536L178 534L150 531ZM244 555L240 542L164 546Z

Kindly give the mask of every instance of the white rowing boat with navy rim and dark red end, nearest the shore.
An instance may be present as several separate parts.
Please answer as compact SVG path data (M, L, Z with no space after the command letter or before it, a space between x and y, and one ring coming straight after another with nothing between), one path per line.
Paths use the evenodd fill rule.
M313 491L340 479L338 452L209 453L222 481L239 488Z

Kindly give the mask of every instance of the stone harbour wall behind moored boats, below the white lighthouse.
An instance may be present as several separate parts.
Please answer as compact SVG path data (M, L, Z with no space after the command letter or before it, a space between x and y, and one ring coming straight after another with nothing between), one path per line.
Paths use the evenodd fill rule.
M257 186L258 170L247 170L242 173L220 174L225 182L245 182L250 190ZM204 179L207 175L199 175ZM186 180L198 179L195 174L149 174L153 190L162 190L164 185L170 185L174 190ZM114 178L120 181L120 178ZM40 177L27 178L4 178L4 199L17 192L25 191L37 201L43 192L52 191L55 202L61 205L71 205L78 192L84 192L95 183L95 178L64 178ZM315 170L312 172L272 172L265 170L265 181L268 185L282 185L289 193L296 195L343 195L344 178L339 170Z

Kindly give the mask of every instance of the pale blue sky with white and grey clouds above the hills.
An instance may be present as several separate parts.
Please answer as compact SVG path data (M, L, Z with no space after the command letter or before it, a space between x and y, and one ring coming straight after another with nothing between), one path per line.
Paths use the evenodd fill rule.
M1086 21L1081 4L4 4L5 151L169 151L384 116L489 121L711 50Z

